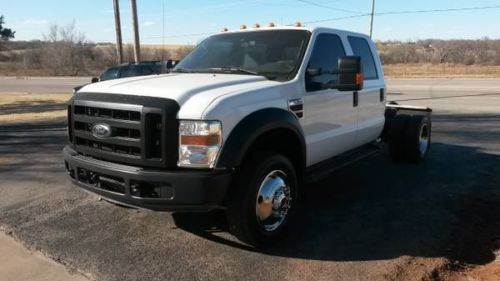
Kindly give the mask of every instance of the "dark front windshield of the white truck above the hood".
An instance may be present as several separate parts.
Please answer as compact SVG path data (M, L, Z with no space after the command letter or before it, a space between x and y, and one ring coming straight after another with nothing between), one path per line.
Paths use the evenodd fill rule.
M300 66L309 37L305 30L214 35L189 53L174 72L224 72L289 80Z

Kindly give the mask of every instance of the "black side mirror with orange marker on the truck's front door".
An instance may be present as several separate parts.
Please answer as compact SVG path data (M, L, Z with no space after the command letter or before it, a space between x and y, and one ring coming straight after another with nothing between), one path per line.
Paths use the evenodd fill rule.
M339 91L360 91L363 89L363 69L361 57L340 57L338 61L338 82L336 89Z

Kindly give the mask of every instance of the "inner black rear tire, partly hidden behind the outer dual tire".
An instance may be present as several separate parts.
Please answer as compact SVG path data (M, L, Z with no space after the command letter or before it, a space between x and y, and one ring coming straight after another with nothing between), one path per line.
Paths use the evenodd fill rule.
M392 160L396 162L406 160L405 135L408 121L411 119L409 115L396 115L391 122L389 131L389 153Z

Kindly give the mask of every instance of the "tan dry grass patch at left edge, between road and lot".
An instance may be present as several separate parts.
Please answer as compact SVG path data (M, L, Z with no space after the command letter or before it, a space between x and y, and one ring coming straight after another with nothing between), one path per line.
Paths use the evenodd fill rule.
M66 110L61 110L60 107L63 107L70 98L71 95L67 94L0 94L0 124L64 118ZM54 109L54 105L57 109ZM47 109L44 109L45 107ZM1 111L13 108L16 113L1 114Z

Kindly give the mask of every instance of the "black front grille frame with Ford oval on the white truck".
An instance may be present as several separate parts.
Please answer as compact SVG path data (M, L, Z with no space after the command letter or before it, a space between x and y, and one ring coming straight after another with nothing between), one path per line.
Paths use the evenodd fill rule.
M178 128L179 122L177 120L177 113L179 112L179 104L172 99L157 98L138 95L120 95L108 93L89 93L78 92L72 100L71 105L71 120L82 122L106 122L111 126L119 126L121 128L138 129L141 132L141 141L135 143L133 140L122 138L110 138L107 140L99 140L101 142L108 142L114 144L122 144L127 146L140 147L141 157L132 157L129 155L120 155L118 153L109 153L100 151L98 149L91 149L84 146L78 146L73 138L73 147L84 154L88 154L97 159L105 159L116 163L131 164L143 167L158 167L158 168L176 168L178 159ZM98 108L112 108L118 110L139 111L141 113L141 121L131 120L118 120L106 119L102 117L89 117L86 115L75 114L75 106L90 106ZM160 114L162 116L162 123L164 124L161 132L162 141L162 155L161 158L147 158L148 155L148 142L146 138L147 126L145 116L147 114ZM75 127L72 126L73 131ZM77 131L74 131L77 134ZM78 132L79 135L82 132ZM85 134L85 133L83 133ZM92 136L85 134L86 139L92 139ZM114 141L117 142L114 142Z

